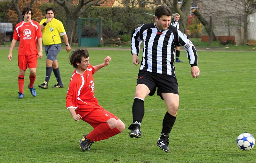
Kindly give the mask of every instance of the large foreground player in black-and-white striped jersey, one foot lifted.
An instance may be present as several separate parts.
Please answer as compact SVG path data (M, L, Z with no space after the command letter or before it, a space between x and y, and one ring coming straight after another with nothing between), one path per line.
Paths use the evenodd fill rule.
M166 103L167 112L163 119L161 137L157 145L169 152L169 133L176 120L179 107L179 90L174 67L174 45L182 45L187 50L193 78L199 76L197 53L188 37L176 27L170 25L171 11L163 5L156 8L155 23L144 24L132 33L132 62L140 63L135 97L132 105L133 124L128 129L131 138L140 138L140 125L144 116L144 99L157 95ZM140 44L144 42L143 56L140 62Z

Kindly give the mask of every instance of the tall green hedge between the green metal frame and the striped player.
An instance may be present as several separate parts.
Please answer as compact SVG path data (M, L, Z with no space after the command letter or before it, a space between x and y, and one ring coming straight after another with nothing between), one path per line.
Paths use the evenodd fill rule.
M94 7L81 13L81 18L102 18L102 36L116 38L124 34L132 34L132 31L144 23L152 23L153 10L130 9L124 7Z

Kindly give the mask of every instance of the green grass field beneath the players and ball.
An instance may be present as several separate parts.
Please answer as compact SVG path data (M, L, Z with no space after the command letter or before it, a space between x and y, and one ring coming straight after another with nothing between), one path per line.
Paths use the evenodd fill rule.
M39 89L44 81L45 55L38 60L35 86L31 96L25 75L24 99L18 99L18 50L13 61L9 50L0 50L0 162L72 162L72 163L240 163L256 162L256 149L244 152L236 147L243 132L256 137L256 55L255 52L198 52L200 77L193 79L182 51L176 64L180 107L170 134L170 152L156 146L166 112L159 96L145 100L142 138L129 138L132 103L139 66L132 64L130 50L89 50L92 65L112 60L94 75L95 96L100 105L114 113L126 125L115 137L95 142L82 152L79 139L92 127L75 122L66 109L66 92L73 68L68 54L58 55L64 89ZM141 58L141 55L140 55ZM56 84L52 73L49 86Z

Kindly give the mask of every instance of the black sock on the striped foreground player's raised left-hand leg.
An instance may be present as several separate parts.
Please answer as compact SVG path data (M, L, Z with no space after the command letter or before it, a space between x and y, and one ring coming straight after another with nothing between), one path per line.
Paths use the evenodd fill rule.
M140 128L142 118L144 116L144 101L139 98L134 98L132 105L132 119L136 127Z

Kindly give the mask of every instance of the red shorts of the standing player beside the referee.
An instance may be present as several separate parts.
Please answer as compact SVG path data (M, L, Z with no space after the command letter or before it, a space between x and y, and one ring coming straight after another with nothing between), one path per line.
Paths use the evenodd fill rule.
M22 70L26 70L27 68L36 68L37 67L37 54L19 55L18 56L18 66Z

